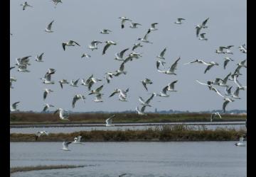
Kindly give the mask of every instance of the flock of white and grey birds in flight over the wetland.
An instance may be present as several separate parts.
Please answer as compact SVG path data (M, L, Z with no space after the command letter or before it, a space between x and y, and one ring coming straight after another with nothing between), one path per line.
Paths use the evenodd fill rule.
M58 3L62 3L62 1L60 0L53 0L53 3L55 4L55 6ZM23 11L26 10L26 8L32 8L33 6L29 5L27 1L25 1L23 4L21 4L21 6L23 7ZM125 26L127 25L127 23L129 22L129 28L139 28L139 26L142 26L142 24L140 23L134 23L131 19L127 18L127 17L119 17L120 23L121 23L121 29L124 29ZM177 25L182 25L183 22L186 21L186 19L184 18L177 18L177 21L174 22ZM203 21L201 24L196 25L196 38L198 38L198 40L208 40L206 38L206 33L202 32L202 30L205 30L208 28L208 21L209 18L206 18L205 21ZM146 44L153 44L153 42L149 41L149 35L151 33L156 33L156 31L158 30L157 25L159 23L151 23L150 27L146 30L146 34L142 37L142 38L138 38L137 40L139 42L135 43L132 47L132 51L129 52L129 55L127 55L127 57L124 55L128 50L128 48L125 48L124 50L115 53L115 57L114 59L121 62L119 68L114 71L114 72L106 72L105 76L103 79L105 79L107 81L107 84L110 84L110 81L120 75L125 75L127 74L127 71L124 69L124 67L126 66L126 64L128 64L129 62L133 62L136 61L137 59L142 57L142 53L141 52L134 52L135 50L138 50L139 47L144 47L144 45ZM46 33L54 33L53 31L53 25L54 25L54 21L50 21L50 23L46 26L45 28L45 32ZM100 33L102 35L108 35L110 33L112 33L112 30L109 29L102 29L100 31ZM12 36L14 36L11 33ZM87 47L89 50L99 50L98 46L102 45L103 43L105 43L105 46L103 47L102 50L102 55L105 55L107 50L112 46L112 45L117 45L117 42L114 42L112 40L107 40L105 42L102 42L100 40L92 40L92 42L90 42L90 45ZM144 44L144 45L142 45ZM65 42L61 43L61 46L63 47L63 52L65 52L65 50L68 50L69 47L74 47L74 46L80 46L80 44L78 42L76 42L75 40L68 40ZM234 45L228 45L228 46L220 46L218 47L217 50L215 50L215 52L217 54L223 54L223 55L233 55L233 52L231 50L231 48L234 47ZM245 46L245 44L240 45L238 47L239 51L246 54L247 53L247 48ZM156 56L156 70L157 72L161 73L161 74L169 74L169 75L176 75L176 69L178 66L178 62L180 62L181 57L178 57L178 59L176 59L171 66L166 69L166 61L165 60L165 53L166 53L167 48L164 47L164 50L162 50L160 52L160 54L158 56ZM40 55L36 55L36 62L44 62L43 60L43 55L44 52L41 53ZM14 68L18 68L18 72L30 72L28 70L28 66L31 65L30 63L30 59L31 59L31 55L26 56L26 57L19 57L16 58L16 64L13 67L10 67L10 71L11 69ZM87 53L83 53L81 58L86 57L86 58L90 58L91 55L87 54ZM234 59L230 58L230 57L224 57L224 62L223 62L223 69L226 69L228 62L234 62ZM239 97L239 92L240 91L245 91L245 89L247 89L247 86L243 86L242 84L240 84L240 82L238 81L238 77L241 76L242 74L240 73L240 69L242 68L247 68L247 66L245 65L246 59L242 60L241 62L238 62L237 67L235 69L234 72L230 72L227 76L225 76L225 78L216 78L215 81L206 81L206 83L203 83L201 81L196 80L196 82L198 84L201 84L203 86L207 86L208 89L210 91L214 91L215 93L217 93L217 96L220 96L223 98L223 113L225 113L225 108L228 105L228 103L232 103L233 101L240 99ZM193 61L185 63L184 65L187 64L203 64L206 66L206 69L204 70L204 74L206 74L206 72L208 72L211 68L213 68L214 66L218 66L218 62L206 62L203 59L193 59ZM43 84L46 85L52 85L52 84L56 84L56 81L53 81L52 77L54 76L54 74L56 73L56 69L50 68L48 69L48 71L46 72L46 74L44 75L43 78L41 78L41 80L43 81ZM92 89L92 87L94 85L96 85L97 82L102 81L103 79L99 79L96 78L93 74L91 76L89 76L87 79L81 79L81 86L85 86L87 87L88 91L90 91L90 93L88 95L94 95L95 99L94 101L96 103L100 103L102 102L102 96L104 95L104 93L102 93L102 89L105 87L105 84L101 84L100 86L97 86L95 89ZM60 79L58 81L58 83L60 84L60 88L63 89L64 84L69 84L70 86L73 87L78 87L78 82L80 79L75 79L75 80L71 80L70 82L67 79ZM17 81L17 79L13 76L10 77L10 89L14 89L14 82ZM230 86L230 84L228 83L229 81L233 81L233 83L236 86L235 91L231 91L231 89L233 88L233 86ZM149 98L146 98L144 100L144 98L142 98L141 96L139 96L139 103L141 105L141 108L139 108L140 106L137 106L137 108L135 109L137 111L137 113L139 115L146 115L145 110L147 107L151 107L151 101L154 97L159 96L159 97L169 97L169 92L176 92L177 90L175 89L175 84L178 82L178 80L172 81L169 84L166 84L166 86L164 86L164 88L159 92L159 93L150 93ZM151 79L149 78L145 78L144 80L141 81L142 86L144 87L144 89L146 91L148 91L148 86L150 84L153 84L153 81L151 81ZM225 93L221 93L216 86L220 86L225 88ZM46 98L48 97L48 95L50 95L53 92L53 90L51 89L44 89L43 90L43 101L46 100ZM127 89L114 89L114 91L112 93L110 93L109 97L112 97L114 95L118 95L119 101L123 102L123 101L127 101L127 94L129 93L129 88ZM228 97L229 96L229 97ZM75 108L75 104L78 101L83 101L85 102L85 96L82 94L76 94L75 96L73 96L72 99L72 107ZM11 112L14 111L18 111L17 107L18 107L18 103L20 103L20 101L17 101L15 103L13 103L11 105ZM45 105L43 105L43 111L47 111L49 108L55 107L52 104L46 103ZM63 108L58 108L55 110L54 114L58 113L59 117L61 120L69 120L69 116L70 114L68 113L67 110L64 110ZM219 118L221 118L220 113L216 112L213 113L210 117L210 121L213 121L213 118L215 118L215 116L217 116ZM112 115L110 118L108 118L106 120L106 126L112 126L112 118L114 118L114 115ZM38 132L37 133L37 137L40 137L40 135L47 135L46 132ZM79 139L79 138L77 138ZM80 139L79 139L80 140ZM68 144L70 144L71 142L63 142L63 150L67 150L68 149Z

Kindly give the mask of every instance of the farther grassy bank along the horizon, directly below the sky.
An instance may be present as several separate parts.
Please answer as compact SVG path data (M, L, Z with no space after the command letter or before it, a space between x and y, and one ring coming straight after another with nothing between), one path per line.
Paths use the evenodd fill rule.
M70 115L70 121L60 120L58 115L50 113L11 113L11 125L29 124L63 124L63 123L105 123L105 120L113 114L107 113L76 113ZM140 116L135 113L114 113L112 123L143 123L143 122L209 122L210 114L181 113L181 114L157 114L149 113ZM214 121L237 121L245 120L246 115L222 115L222 119Z

